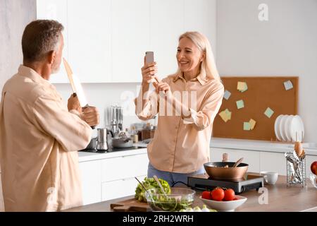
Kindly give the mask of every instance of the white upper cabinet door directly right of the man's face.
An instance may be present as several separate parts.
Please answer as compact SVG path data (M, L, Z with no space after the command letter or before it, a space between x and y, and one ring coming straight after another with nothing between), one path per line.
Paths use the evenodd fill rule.
M111 0L68 0L68 47L82 83L111 81Z

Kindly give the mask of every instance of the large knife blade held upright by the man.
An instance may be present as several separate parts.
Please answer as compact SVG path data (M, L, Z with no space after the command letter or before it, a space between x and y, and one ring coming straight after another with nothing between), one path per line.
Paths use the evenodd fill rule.
M73 96L77 96L78 98L78 101L80 102L80 106L82 108L86 108L86 107L89 107L88 103L87 103L87 99L85 97L85 93L84 93L84 90L82 89L82 84L80 83L79 79L77 78L77 76L75 76L73 74L73 71L72 69L70 69L70 66L68 64L68 62L66 61L65 58L63 58L63 63L64 63L64 66L65 66L65 69L66 69L66 73L67 73L67 76L68 76L68 80L70 82L70 86L73 90ZM91 126L92 129L95 128L95 126Z

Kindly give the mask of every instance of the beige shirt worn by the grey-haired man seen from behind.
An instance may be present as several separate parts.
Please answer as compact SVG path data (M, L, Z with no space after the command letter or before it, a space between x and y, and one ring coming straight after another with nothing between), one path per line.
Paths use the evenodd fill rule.
M54 211L82 205L77 150L92 129L68 112L53 85L20 66L4 85L0 164L6 211Z

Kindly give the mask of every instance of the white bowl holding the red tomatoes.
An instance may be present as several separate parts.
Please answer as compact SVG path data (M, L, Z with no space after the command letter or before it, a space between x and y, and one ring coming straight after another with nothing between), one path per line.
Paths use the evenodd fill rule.
M238 200L233 201L213 201L205 198L199 197L201 201L203 201L207 206L214 210L218 211L224 211L224 212L232 212L235 211L235 208L238 208L241 206L245 201L247 201L247 198L244 196L237 196L239 198Z

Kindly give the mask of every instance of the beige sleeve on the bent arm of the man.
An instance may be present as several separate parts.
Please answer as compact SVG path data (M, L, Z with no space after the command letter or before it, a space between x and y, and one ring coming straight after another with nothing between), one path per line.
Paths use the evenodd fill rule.
M56 98L51 95L38 97L33 112L37 124L54 137L63 150L77 151L87 147L92 129L77 114L68 112Z

